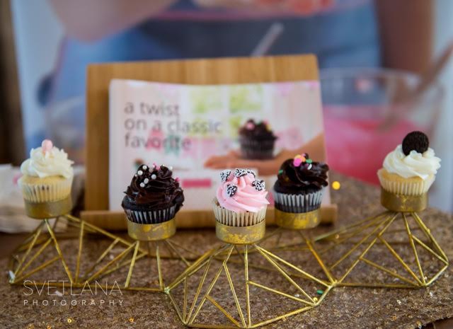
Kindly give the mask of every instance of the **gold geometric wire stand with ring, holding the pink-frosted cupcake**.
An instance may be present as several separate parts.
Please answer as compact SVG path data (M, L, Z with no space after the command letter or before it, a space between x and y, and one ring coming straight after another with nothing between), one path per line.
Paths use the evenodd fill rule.
M257 328L318 306L330 291L330 283L258 245L264 221L216 226L227 243L202 255L165 289L185 325Z

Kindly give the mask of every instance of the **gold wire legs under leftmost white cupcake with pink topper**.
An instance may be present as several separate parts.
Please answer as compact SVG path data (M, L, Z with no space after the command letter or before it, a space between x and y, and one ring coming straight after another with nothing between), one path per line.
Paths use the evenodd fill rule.
M66 208L66 205L64 207ZM89 277L89 272L82 274L81 270L82 265L86 265L82 251L87 234L94 233L107 236L113 239L113 246L117 244L129 246L131 244L69 214L57 216L55 219L40 219L40 216L36 213L37 210L40 214L52 215L52 212L47 211L49 209L34 207L30 213L28 208L28 214L34 217L33 220L40 220L41 222L30 236L25 238L25 241L13 251L8 265L10 284L22 284L26 279L33 279L37 284L45 284L46 281L52 280L52 285L56 287L68 284L71 284L72 287L83 287L86 277ZM42 212L43 210L45 212ZM79 241L77 250L70 252L71 255L76 254L75 263L74 261L68 263L69 259L72 260L73 258L64 255L61 247L62 243L71 238L77 238ZM103 253L103 257L98 258L96 264L92 267L94 268L98 263L101 263L107 253ZM52 273L52 277L46 275L45 279L42 279L39 274L46 268L50 269L48 272Z

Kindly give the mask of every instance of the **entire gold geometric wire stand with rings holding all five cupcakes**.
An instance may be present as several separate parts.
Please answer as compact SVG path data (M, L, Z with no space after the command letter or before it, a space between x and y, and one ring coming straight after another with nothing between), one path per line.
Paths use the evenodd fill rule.
M162 224L127 221L128 233L134 240L131 242L67 214L70 200L45 206L26 204L29 216L40 219L41 223L13 252L8 267L9 282L22 284L25 279L32 279L35 273L57 262L62 265L67 282L72 287L80 288L94 284L113 272L118 275L121 269L126 269L123 271L126 273L124 284L119 286L121 289L164 292L185 325L197 328L257 328L318 306L336 286L419 288L427 287L442 275L449 260L418 214L427 207L428 197L407 197L382 190L381 202L386 212L318 236L314 241L306 237L304 230L319 224L316 211L305 214L277 211L276 223L279 227L268 236L265 236L265 221L243 227L217 222L217 237L225 244L196 260L197 255L169 239L176 231L174 219ZM55 220L52 222L51 219ZM62 222L67 224L67 228L59 231ZM282 244L288 231L297 234L299 240ZM84 264L84 237L91 233L101 234L111 242L96 260ZM66 238L78 238L79 241L76 261L72 265L68 264L61 248ZM268 246L266 243L270 243L272 238L276 241ZM122 251L113 256L110 252L116 247L122 248ZM380 248L377 250L379 257L374 260L369 256L377 247ZM40 260L44 253L50 254L48 248L53 248L56 255L45 261ZM168 251L167 255L162 254L164 249ZM189 252L192 257L185 257L181 250ZM386 254L382 250L386 250ZM306 263L297 263L293 259L289 262L279 255L280 251L292 255L308 252L316 259L308 266L319 265L326 279L304 270L302 265L306 267ZM71 253L74 254L74 251L71 250ZM328 258L325 257L327 253ZM426 255L430 256L428 262ZM149 258L156 261L157 279L151 279L155 284L134 284L138 282L133 276L137 262ZM326 262L332 258L333 262ZM396 260L400 267L387 264L389 258ZM166 259L183 263L182 274L168 285L162 269L162 261ZM192 260L195 261L191 263ZM433 260L438 263L435 269L432 269ZM365 270L365 280L355 277L355 270L363 273L363 265L387 275L391 282L378 278L369 268ZM264 278L267 280L263 282ZM226 284L222 284L222 279ZM52 284L59 287L65 283L57 281ZM263 298L260 293L269 295ZM271 301L266 307L272 308L274 313L257 309L262 307L260 303L263 300ZM280 309L282 305L285 307Z

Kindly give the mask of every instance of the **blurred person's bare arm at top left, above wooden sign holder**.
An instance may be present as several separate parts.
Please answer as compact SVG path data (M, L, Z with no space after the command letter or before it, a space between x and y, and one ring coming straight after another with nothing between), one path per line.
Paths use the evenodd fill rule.
M155 16L176 0L50 0L66 33L98 40Z

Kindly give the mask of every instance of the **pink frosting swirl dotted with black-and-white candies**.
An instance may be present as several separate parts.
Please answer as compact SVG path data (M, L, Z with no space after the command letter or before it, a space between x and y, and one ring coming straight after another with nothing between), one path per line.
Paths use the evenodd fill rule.
M233 212L258 212L266 207L268 192L263 180L256 179L249 169L223 171L222 184L217 188L217 201L221 207Z

